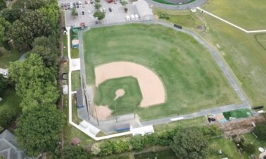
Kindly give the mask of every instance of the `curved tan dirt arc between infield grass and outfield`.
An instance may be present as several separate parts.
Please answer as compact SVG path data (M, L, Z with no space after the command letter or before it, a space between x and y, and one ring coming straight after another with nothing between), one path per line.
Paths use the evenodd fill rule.
M95 68L95 76L96 86L112 78L125 76L137 78L143 95L140 107L150 107L165 102L166 94L162 81L153 71L140 64L127 61L102 64Z

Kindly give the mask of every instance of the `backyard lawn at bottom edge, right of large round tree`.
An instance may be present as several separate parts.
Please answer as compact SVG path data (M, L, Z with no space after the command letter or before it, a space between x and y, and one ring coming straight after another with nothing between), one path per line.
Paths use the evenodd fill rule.
M218 150L221 149L221 155L218 154ZM230 158L230 159L240 159L240 153L238 153L235 143L229 139L218 138L209 141L209 158Z

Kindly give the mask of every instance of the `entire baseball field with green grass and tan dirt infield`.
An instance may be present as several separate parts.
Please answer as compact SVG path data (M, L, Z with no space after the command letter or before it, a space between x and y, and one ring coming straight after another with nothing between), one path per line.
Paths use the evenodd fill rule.
M134 111L148 120L240 102L211 54L189 35L129 24L93 28L83 39L87 84L95 86L95 105L111 114Z

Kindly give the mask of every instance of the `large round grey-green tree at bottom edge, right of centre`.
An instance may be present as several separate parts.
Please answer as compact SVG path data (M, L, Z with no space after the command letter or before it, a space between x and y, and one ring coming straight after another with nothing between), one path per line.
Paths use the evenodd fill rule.
M178 159L204 159L207 154L208 142L204 135L196 128L182 129L174 136L170 148Z

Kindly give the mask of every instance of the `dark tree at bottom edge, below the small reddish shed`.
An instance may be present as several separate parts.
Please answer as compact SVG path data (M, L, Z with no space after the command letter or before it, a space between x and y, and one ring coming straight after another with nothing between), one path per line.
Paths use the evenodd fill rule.
M65 159L88 159L88 153L81 146L68 146L64 148Z

